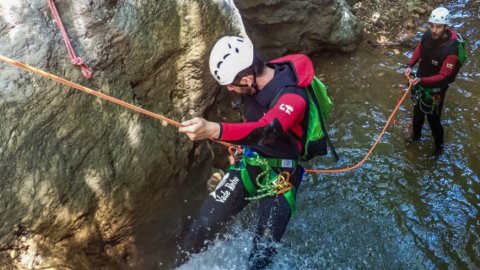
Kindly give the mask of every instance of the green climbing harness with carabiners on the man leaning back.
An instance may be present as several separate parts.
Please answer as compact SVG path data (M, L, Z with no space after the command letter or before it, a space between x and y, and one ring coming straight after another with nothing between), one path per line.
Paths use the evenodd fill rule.
M277 172L275 169L295 169L298 162L292 159L266 158L248 148L241 148L237 155L237 162L230 165L230 170L239 170L243 185L248 192L247 200L257 200L269 196L283 195L288 202L292 215L295 213L295 187L289 182L290 173ZM248 166L259 167L261 173L255 178L255 184L248 173Z

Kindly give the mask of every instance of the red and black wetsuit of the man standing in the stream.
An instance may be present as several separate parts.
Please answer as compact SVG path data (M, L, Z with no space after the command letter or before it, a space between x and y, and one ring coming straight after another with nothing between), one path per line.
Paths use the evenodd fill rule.
M432 95L439 100L436 105L438 107L431 114L425 114L422 111L420 102L415 104L412 139L420 139L425 116L427 116L437 148L441 148L443 145L443 127L440 116L445 94L448 84L455 80L455 76L460 69L457 42L457 34L450 29L446 31L446 37L439 40L433 40L430 31L427 31L423 34L421 42L408 62L408 66L413 67L420 61L416 74L417 77L421 78L420 85L424 88L430 88ZM415 91L418 91L418 87Z

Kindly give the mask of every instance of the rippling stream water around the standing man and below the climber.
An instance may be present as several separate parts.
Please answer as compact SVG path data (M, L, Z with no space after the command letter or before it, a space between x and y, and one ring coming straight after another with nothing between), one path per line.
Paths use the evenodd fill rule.
M305 177L271 269L480 268L480 1L448 7L455 29L470 41L470 58L447 92L444 154L430 156L427 123L420 142L404 143L412 117L406 100L364 166ZM402 65L411 48L368 46L315 58L335 103L329 127L341 155L336 165L318 160L317 168L360 161L405 82ZM179 269L244 269L255 221L253 205L224 238Z

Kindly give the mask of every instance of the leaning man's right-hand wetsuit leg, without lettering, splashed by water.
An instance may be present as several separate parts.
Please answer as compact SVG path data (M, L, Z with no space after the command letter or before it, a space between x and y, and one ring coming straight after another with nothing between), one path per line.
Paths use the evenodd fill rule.
M296 190L300 186L303 169L297 168L290 177L290 182ZM276 254L276 245L280 242L287 224L290 221L291 210L283 195L266 197L259 202L259 222L253 238L253 249L248 262L249 270L265 269Z

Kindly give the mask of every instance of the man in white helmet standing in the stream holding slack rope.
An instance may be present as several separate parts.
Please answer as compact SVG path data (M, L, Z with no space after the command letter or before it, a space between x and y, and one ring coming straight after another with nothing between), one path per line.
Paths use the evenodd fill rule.
M419 141L422 126L427 117L435 140L433 156L443 152L443 127L440 121L442 107L449 83L455 80L460 69L458 57L458 36L450 27L450 13L444 7L432 11L429 29L423 34L407 67L405 76L411 76L413 128L408 142ZM412 68L419 62L416 74Z

